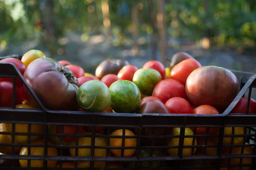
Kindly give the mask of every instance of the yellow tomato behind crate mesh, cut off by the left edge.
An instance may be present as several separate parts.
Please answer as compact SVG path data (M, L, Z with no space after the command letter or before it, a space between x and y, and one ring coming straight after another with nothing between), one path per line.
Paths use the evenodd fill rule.
M5 132L4 123L0 124L0 132ZM9 139L7 135L0 134L0 143L2 144L12 144L12 140ZM15 153L20 153L21 147L15 147ZM0 146L1 153L11 155L12 154L12 147L11 146Z

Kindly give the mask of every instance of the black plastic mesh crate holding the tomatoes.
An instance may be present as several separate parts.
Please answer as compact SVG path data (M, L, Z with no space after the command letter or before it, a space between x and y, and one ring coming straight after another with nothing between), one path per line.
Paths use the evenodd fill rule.
M5 160L5 164L0 164L2 166L0 169L58 170L61 168L47 167L47 162L53 165L60 164L62 167L62 164L68 161L74 162L75 167L69 169L109 170L115 165L119 167L116 169L122 170L220 170L221 167L227 167L227 170L230 168L232 170L255 170L256 114L230 114L230 111L244 94L250 99L251 91L256 87L256 75L239 71L233 71L233 73L241 82L241 91L226 111L219 115L89 113L48 110L29 88L15 65L1 63L0 77L12 77L14 87L16 79L22 79L23 84L38 101L41 109L15 108L17 91L13 88L13 107L0 108L0 122L12 123L12 131L0 132L0 135L11 135L12 138L9 144L0 143L0 151L3 147L11 147L9 155L0 155L0 159ZM19 124L27 124L27 130L23 129L26 132L15 132L14 129L20 126ZM74 126L76 134L63 134L64 125ZM41 127L37 133L32 132L35 126ZM60 126L60 133L52 133L55 131L55 126ZM81 126L92 127L92 132L79 134ZM105 127L105 129L103 132L96 133L98 127ZM194 131L189 127L194 127ZM206 127L207 134L196 135L196 128L199 127ZM224 128L227 127L230 127L230 134L224 134ZM180 128L180 134L173 135L177 128ZM216 128L218 133L209 134L210 128ZM111 135L118 129L120 129L119 136ZM132 131L134 135L124 136L125 129ZM193 134L186 135L187 130ZM17 131L22 130L17 129ZM237 131L240 133L235 134ZM17 135L27 136L27 142L15 144ZM41 136L41 141L40 139L34 140L41 143L33 144L33 136ZM65 143L64 137L75 137L73 145ZM113 139L113 137L118 139ZM53 138L58 139L59 144ZM79 138L86 144L78 146ZM125 140L122 140L124 138ZM118 143L119 147L110 146L111 140L113 143ZM169 146L171 140L176 144ZM237 140L242 142L236 144ZM183 144L184 141L185 144ZM196 142L197 145L195 145ZM99 146L99 143L102 146ZM125 143L133 146L125 146ZM27 147L28 155L20 156L18 152L15 153L17 147ZM41 156L30 155L35 147L41 147ZM72 154L70 154L70 149ZM114 152L113 149L118 149L118 151ZM48 155L48 151L55 154ZM113 153L116 153L116 156ZM27 167L20 167L18 160L28 160ZM35 160L41 160L41 162L35 162ZM32 167L35 164L41 167ZM68 170L68 168L65 169Z

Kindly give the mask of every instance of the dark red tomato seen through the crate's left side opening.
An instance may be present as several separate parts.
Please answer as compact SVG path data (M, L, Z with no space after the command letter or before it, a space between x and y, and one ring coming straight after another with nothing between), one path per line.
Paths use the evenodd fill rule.
M0 82L0 107L12 107L12 83ZM19 89L16 87L16 105L21 104Z

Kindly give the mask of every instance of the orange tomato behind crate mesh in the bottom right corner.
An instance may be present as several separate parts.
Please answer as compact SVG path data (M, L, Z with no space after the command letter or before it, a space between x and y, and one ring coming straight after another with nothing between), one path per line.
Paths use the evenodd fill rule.
M241 155L242 147L233 147L231 154L232 155ZM244 147L243 154L250 154L253 155L253 147ZM223 159L224 164L228 164L228 159ZM252 158L242 158L242 164L251 164ZM233 158L230 159L231 165L238 165L240 164L240 158ZM232 170L251 170L251 166L248 167L232 167Z

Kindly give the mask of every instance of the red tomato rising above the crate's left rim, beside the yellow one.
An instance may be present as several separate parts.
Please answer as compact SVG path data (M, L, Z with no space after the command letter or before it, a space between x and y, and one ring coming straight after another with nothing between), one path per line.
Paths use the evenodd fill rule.
M23 62L21 62L18 59L15 59L15 58L5 58L5 59L0 60L0 62L6 62L6 63L14 64L22 75L24 74L24 72L26 70L26 66L23 64ZM13 82L13 79L12 78L6 78L6 77L0 77L0 82L4 82L4 81ZM23 83L22 83L21 79L16 79L17 88L20 88L22 85L23 85Z

